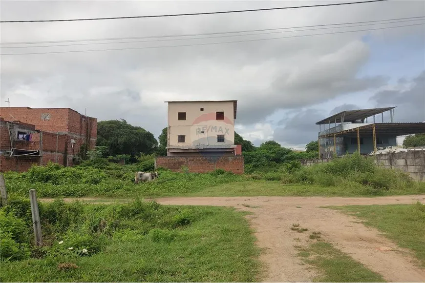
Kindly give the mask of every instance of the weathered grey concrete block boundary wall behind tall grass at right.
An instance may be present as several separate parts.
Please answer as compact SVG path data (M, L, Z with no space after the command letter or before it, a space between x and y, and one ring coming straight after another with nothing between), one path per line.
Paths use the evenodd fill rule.
M425 150L409 150L401 152L369 155L380 167L399 169L412 177L413 180L425 182ZM303 166L312 166L319 163L330 162L332 159L305 159L301 161Z

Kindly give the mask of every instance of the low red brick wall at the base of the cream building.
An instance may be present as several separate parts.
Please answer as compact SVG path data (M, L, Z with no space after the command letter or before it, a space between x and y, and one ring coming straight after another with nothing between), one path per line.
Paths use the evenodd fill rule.
M208 173L220 168L234 174L243 174L245 162L242 155L222 157L160 156L155 158L155 169L162 167L173 172L181 172L181 166L187 166L189 172L192 173Z

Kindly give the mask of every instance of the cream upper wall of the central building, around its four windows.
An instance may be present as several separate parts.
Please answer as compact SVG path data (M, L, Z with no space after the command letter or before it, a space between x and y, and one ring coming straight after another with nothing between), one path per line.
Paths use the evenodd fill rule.
M217 111L224 112L224 120L216 120ZM186 112L186 120L178 120L178 112ZM169 102L168 125L168 146L234 144L234 102ZM178 135L185 142L178 142ZM225 141L217 142L217 135Z

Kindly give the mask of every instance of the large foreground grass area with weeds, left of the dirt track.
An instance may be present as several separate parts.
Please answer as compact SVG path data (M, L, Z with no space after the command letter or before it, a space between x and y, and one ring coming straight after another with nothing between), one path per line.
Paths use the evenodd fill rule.
M22 214L19 207L8 213L17 218ZM14 220L4 214L5 208L1 210L4 233ZM7 250L2 251L1 282L261 280L259 249L243 212L154 202L54 202L43 203L41 211L46 246L33 249L24 259L5 258ZM25 229L21 232L31 239L31 225ZM20 241L17 235L12 238ZM2 234L2 248L7 249L4 239Z

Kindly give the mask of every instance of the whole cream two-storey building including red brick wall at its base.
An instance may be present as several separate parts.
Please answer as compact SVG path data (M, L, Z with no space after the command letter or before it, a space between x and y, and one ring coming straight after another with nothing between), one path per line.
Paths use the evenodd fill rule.
M234 144L237 101L166 101L167 156L155 168L207 173L215 169L244 173L241 145Z

